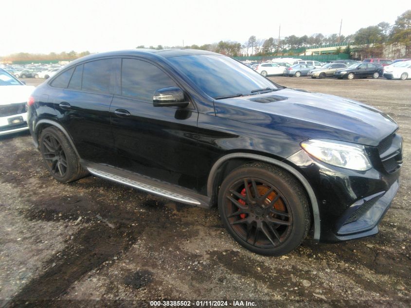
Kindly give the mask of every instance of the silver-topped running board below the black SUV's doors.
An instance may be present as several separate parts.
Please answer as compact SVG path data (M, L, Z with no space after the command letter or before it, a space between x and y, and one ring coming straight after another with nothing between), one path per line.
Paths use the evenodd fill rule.
M83 164L84 163L84 164ZM199 207L209 208L210 198L197 194L190 189L159 181L138 173L116 168L106 164L82 162L87 170L97 177L125 184L153 195L172 199Z

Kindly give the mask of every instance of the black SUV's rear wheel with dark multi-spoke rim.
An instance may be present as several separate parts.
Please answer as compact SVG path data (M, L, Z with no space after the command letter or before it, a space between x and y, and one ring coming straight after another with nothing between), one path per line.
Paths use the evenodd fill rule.
M40 134L39 145L46 167L55 180L68 183L88 174L61 130L55 127L44 128Z

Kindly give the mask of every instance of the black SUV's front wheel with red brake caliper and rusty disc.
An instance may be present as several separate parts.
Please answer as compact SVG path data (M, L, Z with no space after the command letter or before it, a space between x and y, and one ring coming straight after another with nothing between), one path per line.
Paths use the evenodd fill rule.
M218 209L232 237L256 254L287 254L301 244L310 227L300 182L267 163L232 171L221 184Z

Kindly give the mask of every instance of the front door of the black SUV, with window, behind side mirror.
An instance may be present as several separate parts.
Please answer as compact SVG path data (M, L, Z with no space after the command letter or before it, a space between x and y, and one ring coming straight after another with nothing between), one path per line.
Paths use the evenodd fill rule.
M187 188L197 186L197 119L186 108L154 107L156 90L180 87L154 63L123 58L110 107L116 166ZM186 97L189 100L189 97Z

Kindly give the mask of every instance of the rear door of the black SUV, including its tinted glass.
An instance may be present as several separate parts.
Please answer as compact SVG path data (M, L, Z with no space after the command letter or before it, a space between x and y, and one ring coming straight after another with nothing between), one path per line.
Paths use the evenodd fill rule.
M113 59L79 64L57 76L54 109L82 159L112 163L113 136L109 108L113 98Z

